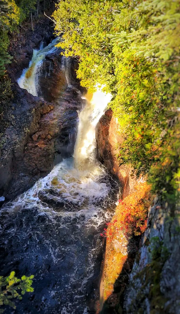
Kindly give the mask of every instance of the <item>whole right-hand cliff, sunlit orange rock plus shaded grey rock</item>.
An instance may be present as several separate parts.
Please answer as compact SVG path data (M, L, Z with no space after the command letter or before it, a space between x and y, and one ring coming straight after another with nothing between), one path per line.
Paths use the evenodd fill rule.
M144 202L146 183L142 178L136 181L131 177L130 166L118 167L117 144L123 139L111 109L100 119L96 139L98 157L121 182L125 204L124 208L117 206L106 231L108 238L100 283L101 313L177 314L180 312L178 208L156 197L148 209L143 235L124 232L126 219L122 222L122 211L135 197ZM130 214L131 210L132 207Z

